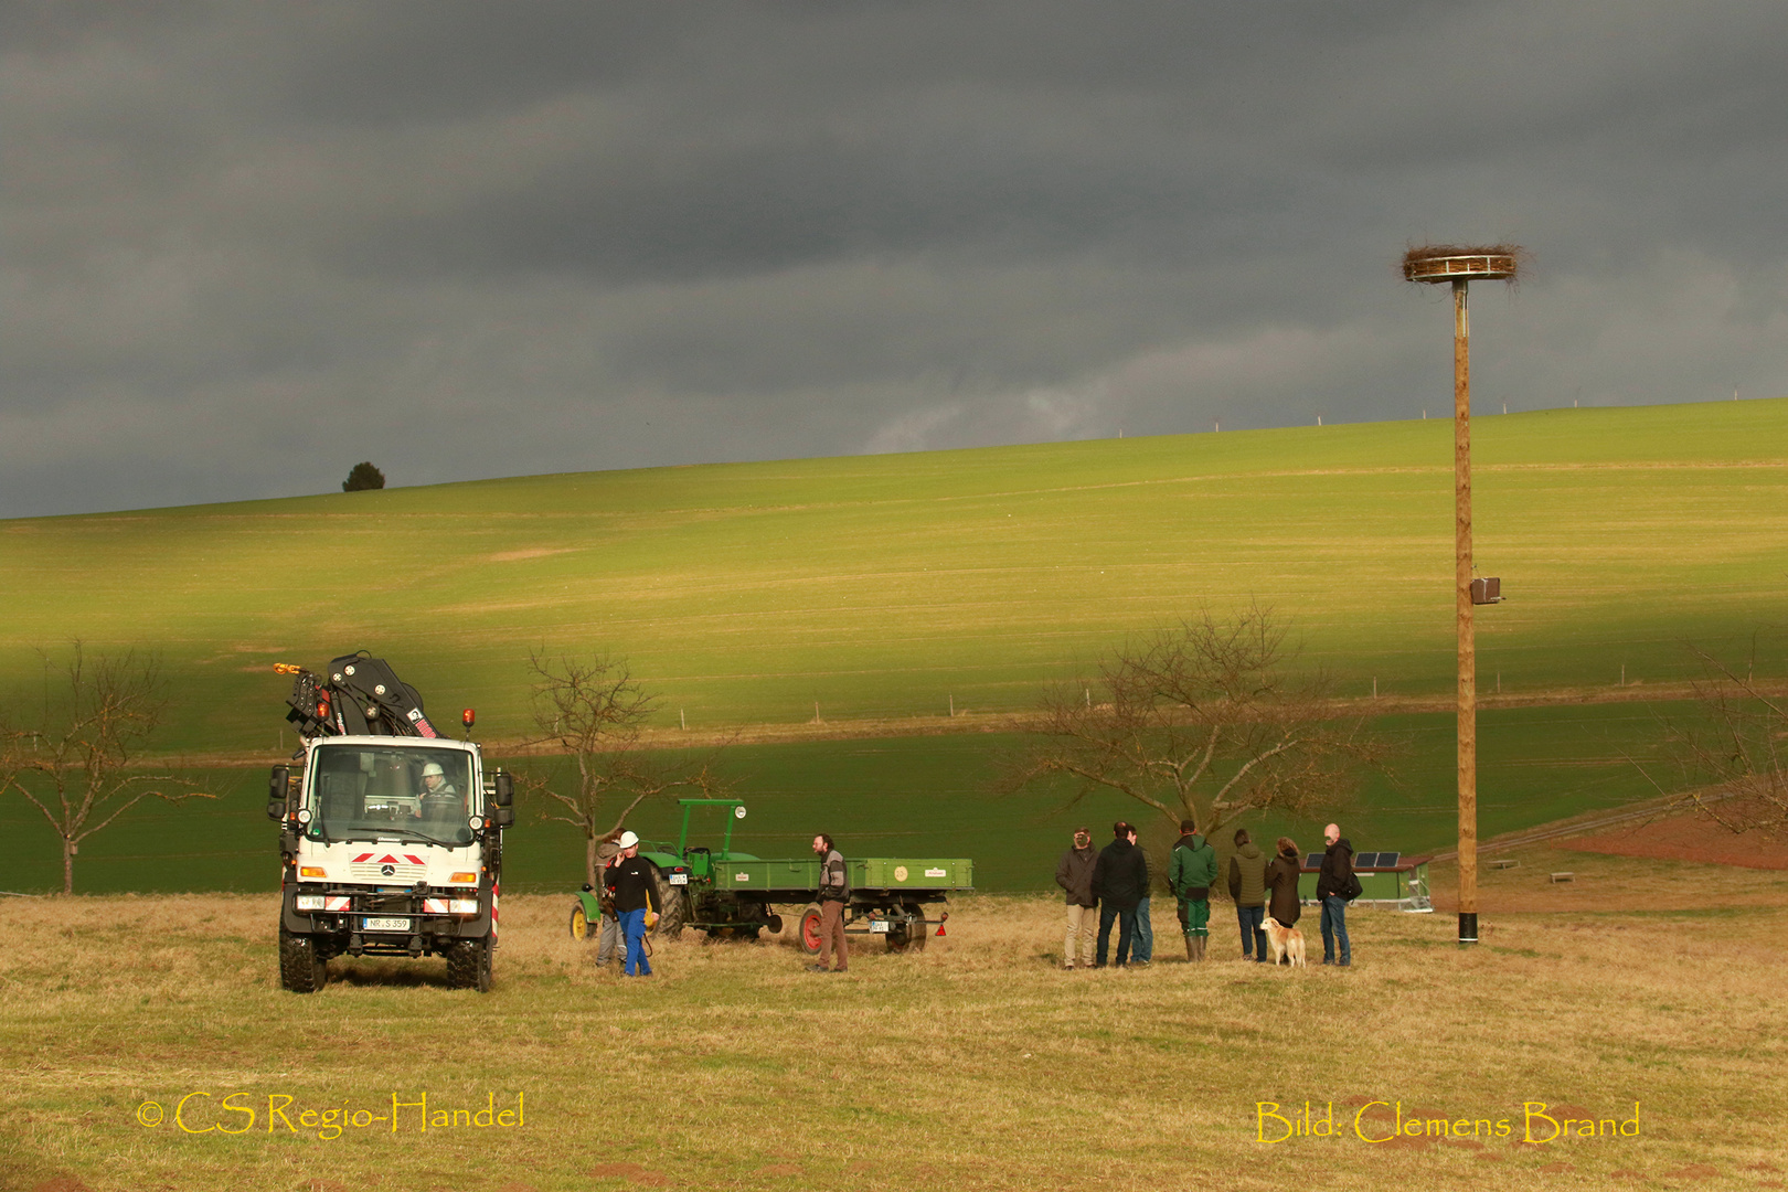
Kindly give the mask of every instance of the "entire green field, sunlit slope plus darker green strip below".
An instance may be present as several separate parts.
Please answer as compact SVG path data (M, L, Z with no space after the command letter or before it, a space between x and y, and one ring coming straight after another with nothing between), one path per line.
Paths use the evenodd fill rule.
M1488 416L1475 459L1477 558L1509 597L1479 615L1482 690L1679 697L1686 642L1740 651L1779 618L1788 400ZM93 838L77 888L252 890L270 869L261 777L215 767L291 749L274 661L367 647L436 718L477 706L499 754L526 731L538 645L624 654L665 727L749 733L817 704L851 738L914 718L973 727L1126 634L1261 599L1345 695L1445 701L1450 581L1443 420L547 475L0 522L0 699L41 683L39 647L159 654L173 695L159 747L213 767L225 797ZM951 706L969 715L946 720ZM1627 758L1649 756L1659 715L1681 708L1486 711L1484 833L1656 793ZM1450 718L1384 726L1409 751L1366 792L1355 844L1445 847ZM1058 793L985 793L1010 743L747 743L728 765L753 851L789 851L822 820L860 851L971 854L985 888L1030 888L1082 817L1058 815ZM0 802L7 885L45 888L57 858L27 811ZM522 826L513 881L574 879L578 842L526 810Z

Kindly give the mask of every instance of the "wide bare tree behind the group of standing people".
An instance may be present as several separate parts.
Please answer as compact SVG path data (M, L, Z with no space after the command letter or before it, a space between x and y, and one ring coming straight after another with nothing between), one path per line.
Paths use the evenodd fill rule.
M1269 608L1205 609L1118 651L1096 679L1051 690L1005 786L1066 776L1076 802L1112 790L1205 835L1250 811L1334 806L1386 751L1361 718L1336 717L1323 676L1293 676L1287 661Z

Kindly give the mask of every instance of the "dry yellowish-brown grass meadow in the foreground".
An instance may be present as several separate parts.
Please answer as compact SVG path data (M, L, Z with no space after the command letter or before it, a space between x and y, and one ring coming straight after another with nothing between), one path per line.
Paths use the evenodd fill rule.
M1227 902L1187 965L1157 897L1151 967L1062 972L1058 904L987 895L848 976L805 972L789 933L663 942L624 981L567 936L569 899L511 897L483 997L440 961L284 994L266 895L4 899L0 1187L1788 1187L1788 874L1511 856L1479 947L1355 908L1350 970L1241 963ZM440 1124L401 1106L393 1133L422 1094ZM1262 1140L1261 1103L1305 1101L1337 1137ZM1529 1144L1523 1103L1607 1126Z

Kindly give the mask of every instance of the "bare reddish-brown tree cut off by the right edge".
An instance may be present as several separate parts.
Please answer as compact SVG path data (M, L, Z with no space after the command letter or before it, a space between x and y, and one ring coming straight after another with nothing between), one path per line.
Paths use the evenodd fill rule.
M1788 826L1788 701L1779 683L1756 677L1758 642L1743 672L1690 649L1702 665L1695 697L1706 717L1668 731L1686 788L1677 806L1697 808L1734 833Z

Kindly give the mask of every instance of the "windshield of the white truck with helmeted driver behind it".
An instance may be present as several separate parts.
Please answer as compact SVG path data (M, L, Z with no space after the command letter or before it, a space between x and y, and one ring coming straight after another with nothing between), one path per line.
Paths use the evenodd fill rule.
M311 840L472 842L472 758L465 751L318 745L311 767L304 829Z

